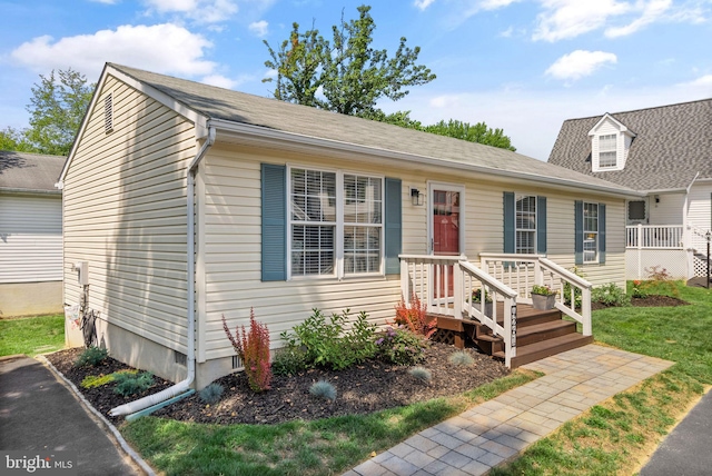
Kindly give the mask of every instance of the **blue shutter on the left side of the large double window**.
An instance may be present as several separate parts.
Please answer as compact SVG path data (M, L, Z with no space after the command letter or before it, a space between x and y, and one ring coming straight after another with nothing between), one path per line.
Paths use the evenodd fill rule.
M263 163L263 281L287 279L287 168Z

